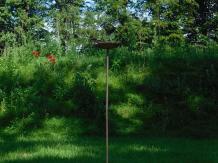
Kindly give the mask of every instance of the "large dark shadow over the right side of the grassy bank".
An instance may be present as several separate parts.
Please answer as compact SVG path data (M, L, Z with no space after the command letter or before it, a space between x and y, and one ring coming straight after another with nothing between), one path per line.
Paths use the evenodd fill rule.
M144 128L164 136L217 138L217 63L217 56L204 55L151 58L143 82L127 80L124 86L148 103Z

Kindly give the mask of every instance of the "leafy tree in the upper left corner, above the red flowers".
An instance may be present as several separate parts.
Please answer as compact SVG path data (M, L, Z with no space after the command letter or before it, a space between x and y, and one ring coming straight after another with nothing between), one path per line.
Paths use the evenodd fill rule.
M27 39L31 39L43 29L42 1L8 0L1 1L0 5L1 38L4 38L5 34L13 33L18 43L25 44Z

